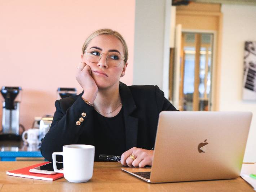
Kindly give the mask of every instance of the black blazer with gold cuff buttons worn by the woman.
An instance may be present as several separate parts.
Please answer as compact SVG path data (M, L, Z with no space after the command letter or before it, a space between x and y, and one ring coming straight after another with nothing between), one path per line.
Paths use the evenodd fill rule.
M132 147L153 148L159 113L176 111L176 108L158 86L127 86L120 82L119 93L123 103L127 150ZM64 145L94 145L94 134L97 134L94 133L94 108L85 103L81 95L83 92L55 102L53 122L41 144L41 153L48 161L52 161L52 153L62 151ZM86 113L84 121L76 125L81 113Z

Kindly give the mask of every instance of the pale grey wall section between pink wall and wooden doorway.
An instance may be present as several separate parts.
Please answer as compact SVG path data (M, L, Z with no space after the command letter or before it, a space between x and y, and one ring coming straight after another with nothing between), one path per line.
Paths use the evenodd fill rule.
M169 62L170 12L171 0L136 0L133 85L163 89L163 63Z

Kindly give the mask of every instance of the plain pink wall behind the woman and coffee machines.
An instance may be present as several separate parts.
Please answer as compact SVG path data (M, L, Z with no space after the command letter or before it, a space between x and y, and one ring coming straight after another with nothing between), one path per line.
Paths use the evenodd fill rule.
M20 123L53 114L58 87L81 88L75 80L81 47L99 28L119 31L129 59L122 81L132 84L135 0L0 1L0 86L23 89ZM0 121L2 103L0 104Z

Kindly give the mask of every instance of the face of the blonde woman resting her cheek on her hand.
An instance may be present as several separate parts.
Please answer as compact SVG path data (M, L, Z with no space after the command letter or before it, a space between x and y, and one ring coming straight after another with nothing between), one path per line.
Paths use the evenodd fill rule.
M82 61L86 63L92 70L92 78L96 82L99 89L107 89L111 86L118 85L121 74L124 75L127 63L122 59L119 66L109 64L111 59L115 59L112 55L124 56L124 48L119 39L114 35L98 35L94 37L87 46L87 52L90 51L93 55L102 57L98 62L88 61L88 56L82 55ZM109 54L107 62L107 54ZM113 60L112 60L113 61Z

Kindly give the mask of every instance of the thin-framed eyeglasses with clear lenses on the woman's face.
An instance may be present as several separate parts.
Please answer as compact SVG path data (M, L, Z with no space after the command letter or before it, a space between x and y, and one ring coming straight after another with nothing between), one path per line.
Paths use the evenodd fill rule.
M124 57L116 52L106 54L101 53L101 51L97 49L85 50L85 58L87 58L88 61L92 63L99 62L103 54L107 55L107 64L113 67L118 67L122 63L122 60L125 61Z

